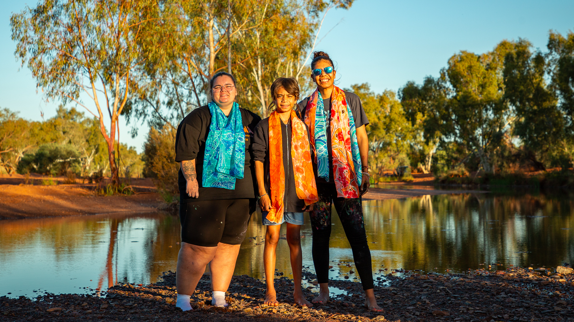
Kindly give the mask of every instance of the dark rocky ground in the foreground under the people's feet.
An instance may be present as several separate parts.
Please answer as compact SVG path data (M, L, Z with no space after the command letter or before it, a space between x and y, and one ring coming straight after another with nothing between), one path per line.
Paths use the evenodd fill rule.
M290 298L293 281L276 280L278 307L262 304L265 285L248 276L234 276L228 308L212 307L209 276L192 297L193 312L175 304L175 273L164 273L151 285L115 285L99 296L48 294L35 299L0 297L0 321L574 321L572 270L484 268L464 274L389 272L377 278L375 295L384 313L363 307L358 282L332 280L341 290L326 305L297 307ZM387 273L384 272L383 273ZM393 276L393 274L401 276ZM316 285L315 276L304 278ZM305 289L312 299L313 286Z

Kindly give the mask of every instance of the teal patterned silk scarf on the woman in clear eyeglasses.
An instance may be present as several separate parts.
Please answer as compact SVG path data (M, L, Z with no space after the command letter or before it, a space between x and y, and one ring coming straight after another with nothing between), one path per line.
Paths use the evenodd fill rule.
M229 116L211 101L210 132L203 158L204 187L235 189L235 179L243 178L245 169L245 132L239 104L233 103Z

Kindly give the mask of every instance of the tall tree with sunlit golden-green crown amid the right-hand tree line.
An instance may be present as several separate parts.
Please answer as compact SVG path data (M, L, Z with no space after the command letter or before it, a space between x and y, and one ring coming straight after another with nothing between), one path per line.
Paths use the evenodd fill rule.
M502 41L492 52L460 52L448 60L441 78L452 87L442 118L443 133L475 152L480 166L492 172L492 155L502 142L510 121L503 99L502 61L513 44Z

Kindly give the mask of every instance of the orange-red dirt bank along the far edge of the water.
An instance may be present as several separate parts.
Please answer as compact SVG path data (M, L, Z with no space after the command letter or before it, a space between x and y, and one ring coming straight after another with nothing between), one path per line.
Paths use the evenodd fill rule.
M131 179L133 195L97 195L96 183L64 184L65 178L3 176L0 177L0 219L65 217L113 213L153 213L164 210L165 202L150 179ZM28 180L28 182L26 182ZM44 180L57 182L44 185ZM100 184L101 186L102 184ZM381 187L385 187L381 185ZM372 187L364 200L385 200L421 195L483 193L476 190L435 190L429 180L421 178L417 189ZM172 211L173 212L173 211Z

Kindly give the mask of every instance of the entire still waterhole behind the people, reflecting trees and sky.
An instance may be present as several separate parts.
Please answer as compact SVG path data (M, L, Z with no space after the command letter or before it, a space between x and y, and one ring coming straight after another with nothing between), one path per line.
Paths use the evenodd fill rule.
M392 269L461 272L484 264L502 264L493 269L510 264L551 267L574 259L571 195L426 195L364 201L363 207L377 276ZM313 270L308 216L301 235L304 266ZM247 236L235 273L263 278L261 214L253 215ZM92 293L118 282L148 284L175 270L179 241L179 219L164 214L0 221L0 296ZM336 216L330 252L331 277L357 278L349 274L354 270L352 253ZM285 239L277 248L277 268L290 276Z

